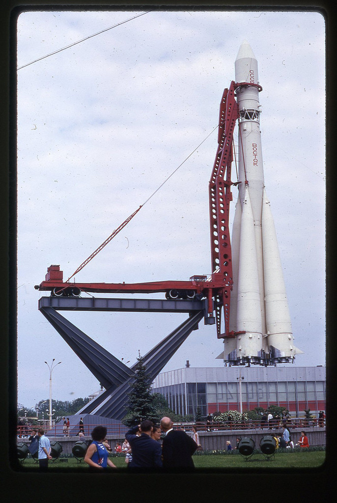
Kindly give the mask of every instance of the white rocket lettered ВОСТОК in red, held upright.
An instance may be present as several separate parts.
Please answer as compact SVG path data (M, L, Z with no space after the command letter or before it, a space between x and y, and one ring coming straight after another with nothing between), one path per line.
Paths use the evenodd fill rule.
M229 365L291 363L290 313L262 160L258 62L247 42L235 60L239 108L238 185L232 229L230 330L219 355ZM218 358L219 358L218 357Z

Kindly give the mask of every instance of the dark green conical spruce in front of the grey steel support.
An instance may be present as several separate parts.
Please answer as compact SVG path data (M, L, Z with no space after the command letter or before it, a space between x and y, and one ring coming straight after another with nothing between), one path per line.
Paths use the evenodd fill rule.
M126 415L123 418L123 424L128 428L139 425L144 419L149 419L156 424L160 419L151 394L152 379L146 372L146 367L139 352L138 354L136 377L134 382L130 384L132 390L128 393Z

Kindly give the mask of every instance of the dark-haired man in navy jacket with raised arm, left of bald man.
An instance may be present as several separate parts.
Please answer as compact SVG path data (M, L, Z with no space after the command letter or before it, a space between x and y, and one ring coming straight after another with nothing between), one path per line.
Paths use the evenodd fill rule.
M136 433L140 432L140 435ZM161 446L151 439L152 422L144 420L125 435L132 452L129 468L161 468Z

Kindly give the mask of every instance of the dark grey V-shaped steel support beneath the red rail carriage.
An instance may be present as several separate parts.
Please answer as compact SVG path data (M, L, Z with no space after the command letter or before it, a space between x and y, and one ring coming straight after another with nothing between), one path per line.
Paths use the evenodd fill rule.
M135 380L135 363L131 368L97 344L58 311L129 311L129 312L187 312L189 317L152 348L143 363L152 382L172 358L200 320L207 319L207 300L160 300L117 298L41 297L39 310L58 331L78 358L99 380L105 391L82 407L77 414L95 414L122 420L127 393Z

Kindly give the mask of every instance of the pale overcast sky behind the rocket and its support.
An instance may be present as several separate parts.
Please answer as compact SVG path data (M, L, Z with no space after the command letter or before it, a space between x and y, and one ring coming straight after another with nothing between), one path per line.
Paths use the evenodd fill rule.
M26 12L18 67L137 12ZM73 400L99 382L38 311L51 264L66 280L218 124L247 40L259 64L265 183L278 234L294 365L325 364L325 28L314 12L150 12L18 70L18 400ZM237 136L235 134L235 144ZM208 182L217 131L78 275L77 282L211 273ZM232 169L235 179L235 166ZM235 180L234 180L235 181ZM237 197L233 188L233 206ZM163 294L157 295L163 298ZM186 314L64 313L128 365ZM223 366L215 326L164 371Z

